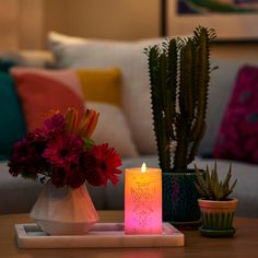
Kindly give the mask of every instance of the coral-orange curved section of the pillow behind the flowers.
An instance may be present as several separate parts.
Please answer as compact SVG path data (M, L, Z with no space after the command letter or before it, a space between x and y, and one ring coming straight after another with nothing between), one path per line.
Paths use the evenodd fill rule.
M68 107L74 107L83 114L82 98L66 83L30 72L12 75L30 131L43 124L50 109L66 113Z

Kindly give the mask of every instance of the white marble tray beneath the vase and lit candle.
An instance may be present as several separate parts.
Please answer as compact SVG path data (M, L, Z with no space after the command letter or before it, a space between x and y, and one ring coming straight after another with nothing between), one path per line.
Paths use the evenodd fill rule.
M107 248L184 246L185 236L169 223L161 235L126 235L124 223L96 223L86 235L50 236L36 224L15 224L20 248Z

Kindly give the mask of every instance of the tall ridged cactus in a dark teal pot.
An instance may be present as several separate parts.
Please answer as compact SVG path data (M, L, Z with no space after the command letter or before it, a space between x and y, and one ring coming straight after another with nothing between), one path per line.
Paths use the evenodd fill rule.
M200 222L195 160L206 131L212 28L172 38L145 49L149 62L153 125L163 180L163 220Z

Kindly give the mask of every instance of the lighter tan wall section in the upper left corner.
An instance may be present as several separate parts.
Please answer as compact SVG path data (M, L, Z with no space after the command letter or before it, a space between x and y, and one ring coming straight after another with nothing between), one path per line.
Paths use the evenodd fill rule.
M42 10L43 0L0 0L0 51L40 47Z

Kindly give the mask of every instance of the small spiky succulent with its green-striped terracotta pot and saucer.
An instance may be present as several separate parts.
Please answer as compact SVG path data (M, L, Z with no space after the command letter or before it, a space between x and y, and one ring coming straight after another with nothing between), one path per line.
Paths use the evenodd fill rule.
M220 180L216 163L211 173L207 166L204 177L196 167L196 188L201 196L198 199L202 219L202 226L199 230L203 236L232 236L235 233L232 224L238 200L228 196L233 192L237 179L230 185L231 171L230 166L225 179Z

